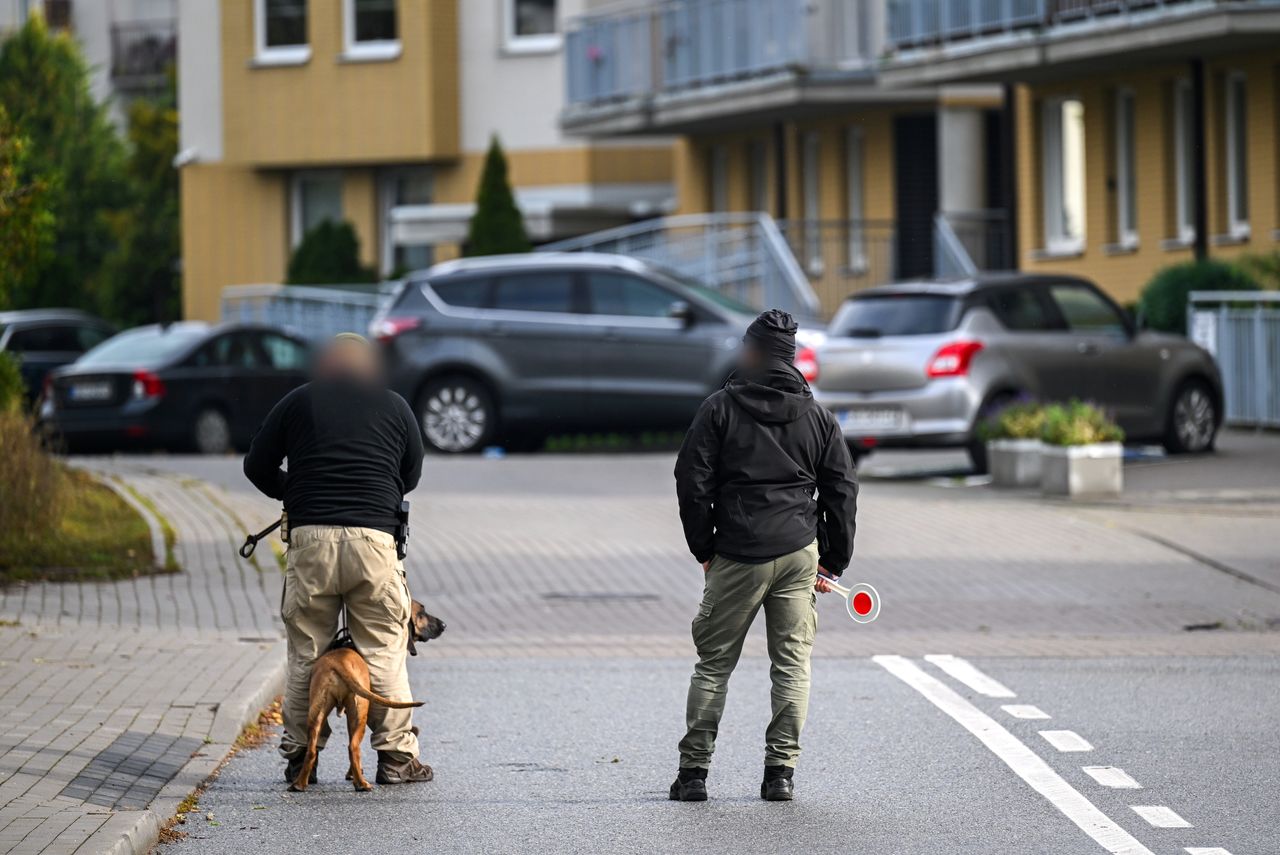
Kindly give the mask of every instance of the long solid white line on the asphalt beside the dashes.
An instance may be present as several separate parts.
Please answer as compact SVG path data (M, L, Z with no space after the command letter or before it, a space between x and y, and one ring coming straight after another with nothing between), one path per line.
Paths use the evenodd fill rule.
M1112 855L1155 855L1117 826L1092 801L1050 768L1036 751L1005 730L996 719L957 695L941 680L902 657L872 657L872 660L905 682L961 727L978 737L992 754L1044 796L1064 817Z

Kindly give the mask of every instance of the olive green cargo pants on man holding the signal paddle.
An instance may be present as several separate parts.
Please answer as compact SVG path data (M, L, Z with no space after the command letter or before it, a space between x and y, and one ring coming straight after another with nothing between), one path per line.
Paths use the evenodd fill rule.
M719 555L712 559L703 603L694 618L698 664L685 710L689 731L680 741L682 769L710 765L728 678L762 605L773 663L773 718L764 732L764 765L796 764L800 731L809 712L809 654L818 630L813 587L817 576L817 543L763 564L742 564Z

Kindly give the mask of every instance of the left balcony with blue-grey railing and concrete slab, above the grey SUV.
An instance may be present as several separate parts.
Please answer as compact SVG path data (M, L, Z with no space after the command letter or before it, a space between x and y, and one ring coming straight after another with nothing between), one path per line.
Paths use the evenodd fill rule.
M714 129L873 90L878 0L666 0L579 18L561 124L582 133Z

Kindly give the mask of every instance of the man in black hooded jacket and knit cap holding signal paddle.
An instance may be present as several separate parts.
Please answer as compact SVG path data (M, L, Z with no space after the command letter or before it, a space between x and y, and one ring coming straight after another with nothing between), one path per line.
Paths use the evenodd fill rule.
M707 799L728 678L762 607L773 718L760 797L792 797L809 707L814 591L829 591L826 579L849 564L858 509L849 448L794 365L795 333L796 323L776 308L753 321L739 371L703 402L676 458L680 520L705 587L692 626L699 660L673 800Z

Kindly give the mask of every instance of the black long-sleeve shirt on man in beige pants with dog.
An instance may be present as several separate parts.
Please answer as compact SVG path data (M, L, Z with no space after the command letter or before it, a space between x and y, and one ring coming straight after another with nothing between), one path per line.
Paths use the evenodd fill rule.
M289 471L280 468L288 458ZM253 436L244 475L282 499L289 526L396 531L401 499L422 475L413 411L389 389L316 380L284 396Z

